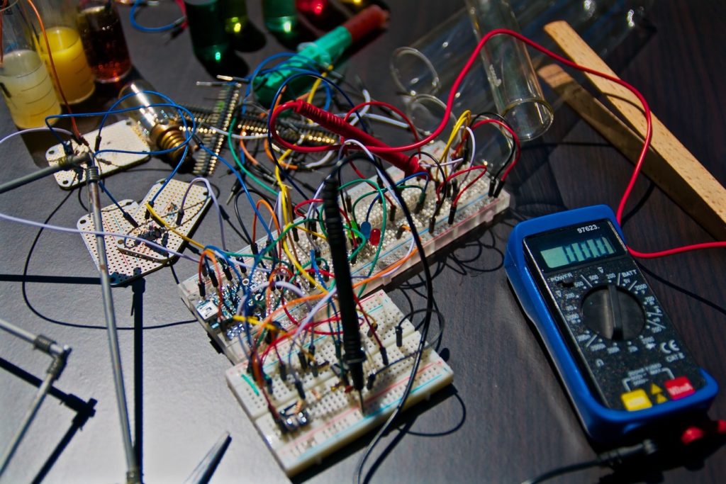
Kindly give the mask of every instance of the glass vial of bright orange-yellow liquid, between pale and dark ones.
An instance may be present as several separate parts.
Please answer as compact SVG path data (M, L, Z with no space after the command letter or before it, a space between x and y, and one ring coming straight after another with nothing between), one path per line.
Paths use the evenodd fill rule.
M53 55L55 70L60 79L65 99L69 104L83 102L96 89L93 71L83 52L81 36L76 28L76 4L73 0L34 0L43 19L43 24ZM36 21L36 42L38 52L52 74L46 42ZM53 79L55 81L55 79ZM58 94L60 97L60 93Z

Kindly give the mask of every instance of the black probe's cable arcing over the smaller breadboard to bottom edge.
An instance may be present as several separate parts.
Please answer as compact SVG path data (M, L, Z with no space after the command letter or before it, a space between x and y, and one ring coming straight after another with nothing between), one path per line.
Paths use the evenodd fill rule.
M351 161L354 160L364 160L367 163L371 163L376 168L378 168L378 173L380 176L383 177L383 179L386 179L388 184L390 186L396 186L396 183L391 179L391 176L383 170L383 167L380 165L380 163L376 163L375 161L371 160L367 155L364 153L353 153L351 155L346 156L343 158L343 160L340 161L340 165L338 165L335 168L335 171L340 171L340 168L342 168L344 165L351 163ZM333 173L335 173L333 171ZM330 176L333 176L333 173L331 173ZM418 230L416 229L416 224L413 220L413 217L411 215L410 210L408 209L406 202L403 200L403 197L401 197L401 194L398 192L398 190L393 190L391 192L395 197L396 201L399 202L399 205L401 205L401 211L404 213L404 216L406 217L406 220L409 224L409 227L411 229L411 236L414 240L414 243L416 245L416 248L418 250L418 253L420 255L420 260L423 265L423 272L425 276L425 284L426 284L426 315L421 323L421 340L419 342L418 348L415 351L415 359L411 368L411 377L409 378L406 387L404 389L403 395L401 395L401 400L396 405L396 409L393 410L393 413L390 417L386 420L386 423L383 424L383 427L380 428L378 433L375 435L373 440L371 440L370 444L364 451L363 455L361 456L361 459L358 462L358 466L356 467L356 471L353 475L353 482L355 484L361 483L361 476L363 473L363 467L370 456L371 452L373 451L373 448L375 448L376 445L378 445L378 442L380 442L380 439L383 438L383 435L388 432L388 430L391 428L391 424L399 417L401 414L401 411L403 411L404 405L408 399L409 394L411 393L412 387L414 385L415 377L418 372L418 367L421 363L421 358L423 356L423 349L426 345L426 338L428 337L428 329L431 325L431 315L433 314L433 279L431 277L431 271L428 268L428 262L426 261L426 255L424 253L423 249L423 242L421 242L421 237L418 233ZM367 480L367 478L366 478Z

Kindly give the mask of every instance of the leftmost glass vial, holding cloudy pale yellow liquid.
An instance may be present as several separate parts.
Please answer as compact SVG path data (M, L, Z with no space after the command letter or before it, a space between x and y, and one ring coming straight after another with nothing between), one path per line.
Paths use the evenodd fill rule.
M60 114L60 104L17 0L0 8L0 35L0 91L10 116L19 128L45 126L46 116Z

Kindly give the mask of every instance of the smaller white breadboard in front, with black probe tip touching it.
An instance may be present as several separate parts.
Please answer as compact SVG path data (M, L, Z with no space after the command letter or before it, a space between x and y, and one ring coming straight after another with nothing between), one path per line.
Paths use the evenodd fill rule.
M355 391L346 393L345 385L341 384L335 372L333 364L338 361L338 356L335 354L333 337L327 335L314 336L314 364L319 366L317 376L311 371L311 366L303 370L297 348L292 355L289 354L289 343L278 348L287 378L283 379L280 374L280 364L274 350L269 351L264 360L264 372L272 379L269 398L277 411L287 409L285 414L289 416L293 430L282 432L280 425L274 422L261 389L248 374L246 362L227 371L229 387L288 476L321 462L323 457L378 427L401 400L421 335L405 319L401 325L402 344L400 347L396 345L396 326L404 314L385 292L375 292L364 299L362 305L369 318L378 324L378 336L391 363L383 369L378 344L362 327L361 335L367 355L364 374L368 377L380 371L372 387L363 390L364 414L358 394ZM393 364L394 361L399 362ZM297 372L303 384L304 400L293 385L293 372ZM426 348L407 406L446 387L453 377L452 369L436 351Z

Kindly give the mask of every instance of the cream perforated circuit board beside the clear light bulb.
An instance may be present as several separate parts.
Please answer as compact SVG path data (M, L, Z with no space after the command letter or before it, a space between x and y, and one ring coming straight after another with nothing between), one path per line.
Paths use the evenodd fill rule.
M91 145L96 141L98 130L91 131L83 135ZM89 147L76 144L71 141L73 151L76 153L88 152ZM149 144L144 140L142 134L136 128L136 123L131 120L118 121L113 123L101 131L101 144L99 149L120 149L123 151L134 151L137 153L116 153L104 152L96 157L96 164L101 177L109 176L120 170L126 170L134 165L143 163L149 159L147 152L150 150ZM65 157L62 144L56 144L46 151L46 160L49 165L57 165L62 158ZM78 185L86 183L86 173L81 171L65 170L54 173L55 181L63 189L72 189Z

